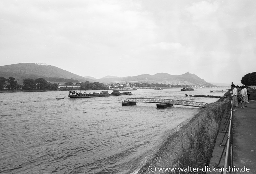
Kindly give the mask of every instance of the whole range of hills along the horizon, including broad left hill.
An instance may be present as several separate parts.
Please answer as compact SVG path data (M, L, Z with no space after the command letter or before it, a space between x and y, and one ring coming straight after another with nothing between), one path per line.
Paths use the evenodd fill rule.
M211 85L204 79L199 78L195 74L189 72L182 75L170 75L168 73L157 73L155 75L142 74L136 76L117 77L117 76L105 76L100 79L73 74L66 70L60 69L47 64L36 63L18 63L12 65L0 66L0 76L4 78L14 77L19 84L23 83L25 78L44 78L51 83L63 83L69 80L75 82L99 82L99 83L159 83L159 84L171 84L171 85Z

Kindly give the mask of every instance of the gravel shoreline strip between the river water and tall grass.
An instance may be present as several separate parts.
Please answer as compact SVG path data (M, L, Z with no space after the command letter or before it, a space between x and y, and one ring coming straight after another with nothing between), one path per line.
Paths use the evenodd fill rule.
M149 174L148 167L178 167L182 163L183 146L186 139L195 133L195 129L199 127L202 118L207 116L207 108L216 108L226 104L225 101L210 103L208 107L202 108L191 119L182 122L163 142L160 148L153 154L137 174ZM156 171L155 173L161 173Z

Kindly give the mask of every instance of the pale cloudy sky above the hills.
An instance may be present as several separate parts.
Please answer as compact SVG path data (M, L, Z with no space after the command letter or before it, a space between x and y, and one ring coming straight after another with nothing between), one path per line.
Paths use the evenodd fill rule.
M1 0L0 59L95 78L241 83L256 71L256 1Z

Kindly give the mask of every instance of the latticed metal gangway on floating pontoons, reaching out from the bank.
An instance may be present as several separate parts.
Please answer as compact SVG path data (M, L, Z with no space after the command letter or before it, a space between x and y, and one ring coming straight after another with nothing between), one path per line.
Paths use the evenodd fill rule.
M171 105L183 105L183 106L192 106L192 107L205 107L208 103L198 102L198 101L187 101L187 100L173 100L173 99L152 99L152 98L127 98L124 100L124 103L131 103L127 105L136 105L136 102L143 103L166 103ZM124 105L122 102L123 106Z

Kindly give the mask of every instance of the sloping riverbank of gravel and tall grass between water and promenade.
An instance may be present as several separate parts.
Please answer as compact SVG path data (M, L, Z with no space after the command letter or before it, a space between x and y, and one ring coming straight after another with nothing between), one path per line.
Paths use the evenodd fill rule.
M209 164L226 104L226 101L220 101L200 109L198 114L183 123L163 142L159 150L141 167L138 174L150 173L149 166L154 169L188 166L203 168ZM156 170L155 173L163 172Z

